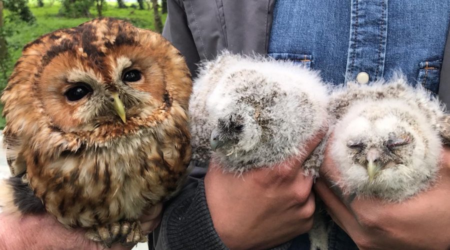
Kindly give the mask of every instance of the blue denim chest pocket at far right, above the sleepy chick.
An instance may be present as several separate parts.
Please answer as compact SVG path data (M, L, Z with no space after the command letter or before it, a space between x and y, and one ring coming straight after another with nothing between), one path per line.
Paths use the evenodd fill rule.
M440 67L442 60L420 62L417 82L434 94L439 91Z

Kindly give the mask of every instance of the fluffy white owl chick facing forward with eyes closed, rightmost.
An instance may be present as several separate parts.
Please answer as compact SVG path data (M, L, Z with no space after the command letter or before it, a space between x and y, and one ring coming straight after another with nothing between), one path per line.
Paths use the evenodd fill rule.
M402 76L350 82L330 106L337 120L330 155L345 193L402 201L436 179L449 116L420 84L409 86Z

